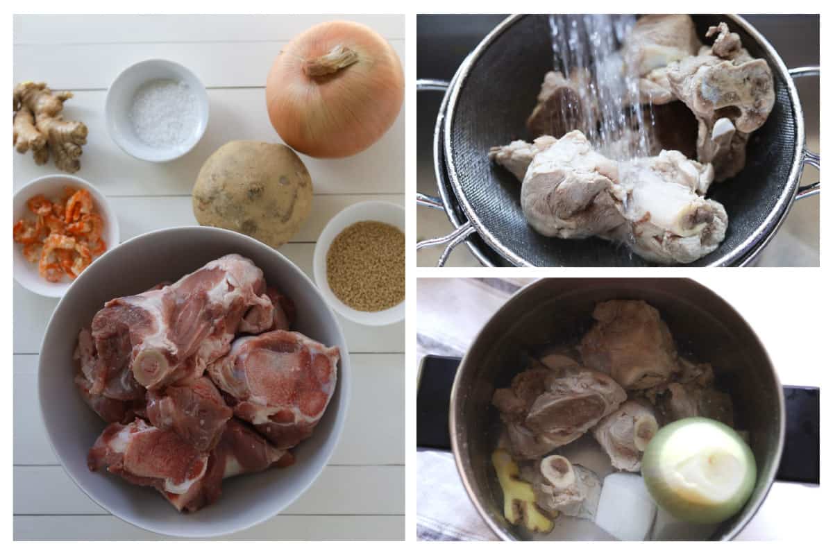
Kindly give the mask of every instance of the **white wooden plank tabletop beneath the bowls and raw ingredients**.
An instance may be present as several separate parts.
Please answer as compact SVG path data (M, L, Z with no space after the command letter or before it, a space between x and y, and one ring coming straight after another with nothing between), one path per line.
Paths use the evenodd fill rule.
M281 48L322 16L17 16L14 80L69 90L68 119L89 128L77 173L112 201L122 240L175 225L196 225L191 188L202 162L235 139L280 142L266 111L264 82ZM347 17L390 41L404 62L405 20ZM119 72L147 58L189 67L208 89L211 119L202 141L177 161L152 164L124 154L107 135L104 99ZM323 226L358 201L404 201L405 124L401 113L358 156L316 161L312 216L280 251L312 277ZM15 190L37 176L31 154L14 155ZM37 408L37 354L57 300L14 285L14 538L152 539L112 517L67 478L48 444ZM235 539L399 539L405 535L404 341L402 323L367 328L341 320L355 385L341 444L312 488L267 523ZM74 392L67 392L72 394Z

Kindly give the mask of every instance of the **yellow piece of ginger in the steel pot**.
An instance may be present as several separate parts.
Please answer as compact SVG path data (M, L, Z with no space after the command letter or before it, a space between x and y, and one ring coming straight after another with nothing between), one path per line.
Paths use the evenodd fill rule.
M538 510L531 484L518 478L521 471L506 449L491 453L491 463L503 490L503 516L506 520L512 524L520 522L530 532L551 532L553 522Z

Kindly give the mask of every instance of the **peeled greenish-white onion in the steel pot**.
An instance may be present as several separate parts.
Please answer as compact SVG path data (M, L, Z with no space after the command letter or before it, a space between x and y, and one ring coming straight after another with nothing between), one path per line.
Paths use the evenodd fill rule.
M710 440L710 444L698 444L698 439ZM692 493L683 498L670 483L671 468L681 468L681 463L709 447L714 448L710 464L712 456L727 452L740 461L743 470L735 493L723 501L695 499L697 495ZM717 420L696 417L677 420L656 433L642 457L642 478L656 504L668 513L686 522L711 524L741 511L755 488L757 470L751 448L734 429Z

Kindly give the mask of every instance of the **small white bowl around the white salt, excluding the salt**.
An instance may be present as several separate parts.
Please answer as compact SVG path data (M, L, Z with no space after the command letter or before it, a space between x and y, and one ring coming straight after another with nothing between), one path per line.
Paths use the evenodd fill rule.
M139 139L130 121L130 109L136 92L145 83L159 79L184 82L197 97L197 125L187 141L177 146L148 145ZM167 60L145 60L127 67L112 82L107 91L104 112L107 116L107 131L122 151L139 160L166 162L184 155L202 138L208 125L208 94L206 87L187 67Z

